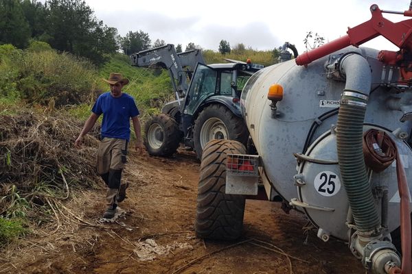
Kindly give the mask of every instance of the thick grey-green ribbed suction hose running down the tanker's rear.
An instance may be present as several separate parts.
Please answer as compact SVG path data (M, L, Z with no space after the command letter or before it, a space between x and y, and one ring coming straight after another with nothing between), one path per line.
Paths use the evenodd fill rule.
M363 156L363 121L371 87L371 69L367 60L358 53L343 55L339 69L346 77L346 84L338 113L336 145L343 186L356 225L352 246L363 257L366 269L385 274L385 264L399 264L400 259L391 242L380 240L380 217Z

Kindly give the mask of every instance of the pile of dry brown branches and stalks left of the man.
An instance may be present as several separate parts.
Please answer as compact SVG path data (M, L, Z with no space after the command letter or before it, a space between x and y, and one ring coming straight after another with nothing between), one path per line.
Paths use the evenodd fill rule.
M85 137L84 147L78 150L73 143L81 129L82 124L60 114L0 116L0 196L14 185L20 196L43 200L34 194L39 185L64 192L69 186L97 182L94 136L98 129ZM4 206L0 203L0 212Z

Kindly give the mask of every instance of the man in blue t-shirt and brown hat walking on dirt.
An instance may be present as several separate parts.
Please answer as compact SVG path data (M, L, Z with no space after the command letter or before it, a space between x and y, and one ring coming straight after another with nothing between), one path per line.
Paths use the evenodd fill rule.
M80 147L84 135L93 128L99 116L103 114L102 140L98 149L98 173L108 186L106 211L103 217L112 219L115 216L117 203L124 200L128 187L127 183L121 184L121 179L130 140L130 118L137 138L135 149L139 153L143 151L143 142L140 133L139 110L137 110L135 100L122 92L122 88L128 84L128 79L123 78L120 73L110 73L108 79L103 80L110 85L111 91L98 97L74 145L76 148Z

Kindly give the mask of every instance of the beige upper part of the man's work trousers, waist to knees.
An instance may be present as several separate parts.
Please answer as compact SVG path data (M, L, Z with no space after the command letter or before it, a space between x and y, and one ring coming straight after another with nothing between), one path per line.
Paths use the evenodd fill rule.
M109 169L121 170L126 164L127 140L104 137L98 150L98 173L108 173Z

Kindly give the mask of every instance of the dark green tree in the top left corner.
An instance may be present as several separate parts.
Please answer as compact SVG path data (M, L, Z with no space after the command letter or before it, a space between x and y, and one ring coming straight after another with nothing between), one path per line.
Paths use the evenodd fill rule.
M28 45L31 37L19 0L0 1L0 44L12 44L19 48Z

